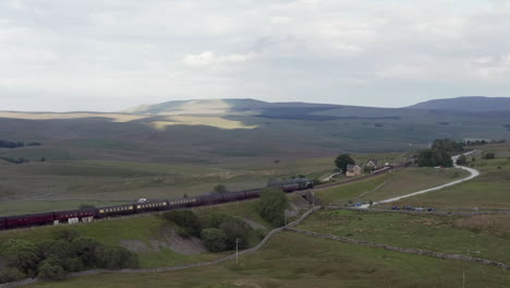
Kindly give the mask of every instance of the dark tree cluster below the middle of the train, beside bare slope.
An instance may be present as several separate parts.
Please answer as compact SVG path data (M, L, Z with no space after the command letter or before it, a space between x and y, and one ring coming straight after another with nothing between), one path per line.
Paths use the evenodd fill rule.
M210 252L221 252L246 248L252 239L259 240L262 233L244 220L216 212L199 219L192 211L171 211L163 217L178 225L177 232L182 237L199 237Z

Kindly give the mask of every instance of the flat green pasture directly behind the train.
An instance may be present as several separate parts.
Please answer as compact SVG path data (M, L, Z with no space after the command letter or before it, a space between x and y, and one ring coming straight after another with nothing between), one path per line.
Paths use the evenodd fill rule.
M386 153L353 157L363 163L369 158L394 161L404 156ZM89 159L0 165L0 215L74 209L80 204L106 206L141 197L178 199L205 194L218 184L230 191L264 188L271 178L323 179L335 172L333 159L258 159L221 165Z

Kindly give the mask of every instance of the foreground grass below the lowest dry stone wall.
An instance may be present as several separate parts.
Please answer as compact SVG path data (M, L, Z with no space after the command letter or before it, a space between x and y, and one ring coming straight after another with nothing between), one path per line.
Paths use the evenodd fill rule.
M282 232L255 254L208 267L102 274L29 287L508 287L508 272Z

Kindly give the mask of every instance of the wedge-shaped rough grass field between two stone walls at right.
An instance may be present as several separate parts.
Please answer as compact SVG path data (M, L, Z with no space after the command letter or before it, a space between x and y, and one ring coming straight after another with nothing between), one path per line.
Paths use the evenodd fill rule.
M454 217L332 211L312 215L299 228L510 264L509 220L510 215Z

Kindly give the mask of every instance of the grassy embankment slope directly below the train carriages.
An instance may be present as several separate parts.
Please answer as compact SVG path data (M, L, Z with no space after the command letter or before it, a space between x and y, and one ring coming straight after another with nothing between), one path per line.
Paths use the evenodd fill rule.
M222 212L255 224L256 228L272 229L271 225L260 218L255 209L255 201L229 203L217 206L199 207L193 209L204 220L212 212ZM90 237L108 245L120 245L125 241L135 242L143 247L136 251L142 267L172 266L195 262L209 261L228 254L199 253L184 255L172 251L166 245L168 231L173 224L168 223L159 215L138 215L136 217L111 218L80 225L45 226L27 229L8 230L0 232L0 244L9 239L17 238L35 243L54 239L62 229L74 229L83 237ZM264 228L263 228L264 229ZM255 245L259 239L250 239L248 244Z

